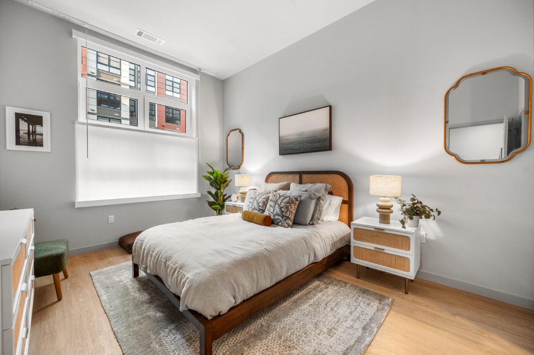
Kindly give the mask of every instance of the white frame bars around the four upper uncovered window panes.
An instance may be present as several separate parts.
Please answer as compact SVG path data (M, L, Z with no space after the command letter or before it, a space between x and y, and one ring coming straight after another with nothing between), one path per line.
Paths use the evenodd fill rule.
M86 37L87 36L87 37ZM93 124L107 125L111 128L122 129L134 129L144 130L148 133L178 135L187 137L197 137L197 123L196 123L196 86L199 76L194 73L186 72L180 68L168 65L164 62L149 58L140 53L132 52L125 48L120 48L117 45L108 43L104 40L88 36L79 31L73 30L73 37L77 38L77 77L78 77L78 121L89 122ZM129 61L133 64L140 66L140 90L123 88L119 85L113 85L98 80L88 79L82 76L82 47L86 49L96 50L102 52L111 57L120 58L122 60ZM187 103L180 101L179 98L171 99L167 97L160 97L150 91L146 91L146 68L156 70L163 74L172 75L177 78L182 78L187 81ZM156 77L157 85L157 77ZM137 127L125 124L117 124L110 122L103 122L98 120L89 120L87 117L87 90L94 89L100 91L106 91L117 95L130 97L137 99ZM185 115L185 127L186 132L177 132L170 130L160 130L149 127L148 120L148 102L154 102L155 104L171 106L179 109L183 109L186 112Z

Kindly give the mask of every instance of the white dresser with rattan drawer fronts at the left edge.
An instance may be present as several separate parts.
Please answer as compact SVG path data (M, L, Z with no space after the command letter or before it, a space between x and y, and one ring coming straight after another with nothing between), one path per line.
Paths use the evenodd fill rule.
M27 354L34 297L33 209L0 211L2 355Z

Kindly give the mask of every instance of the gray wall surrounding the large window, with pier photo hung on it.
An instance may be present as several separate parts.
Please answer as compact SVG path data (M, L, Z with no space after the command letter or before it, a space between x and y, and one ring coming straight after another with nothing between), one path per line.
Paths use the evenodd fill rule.
M36 241L67 238L71 254L115 245L121 235L213 215L210 187L200 198L74 208L77 46L72 23L0 0L0 209L34 208ZM83 29L80 29L83 30ZM162 61L167 61L161 59ZM7 151L5 106L51 114L51 153ZM223 168L222 81L199 83L199 177L205 162ZM201 178L200 178L201 179ZM107 216L115 223L108 224Z

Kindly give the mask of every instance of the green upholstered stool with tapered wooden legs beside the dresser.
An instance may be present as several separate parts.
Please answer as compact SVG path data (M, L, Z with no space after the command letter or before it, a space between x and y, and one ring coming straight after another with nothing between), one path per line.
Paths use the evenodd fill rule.
M68 240L58 239L48 242L35 243L34 250L34 274L36 278L52 275L58 301L63 298L61 295L61 283L59 273L63 272L68 278L67 271Z

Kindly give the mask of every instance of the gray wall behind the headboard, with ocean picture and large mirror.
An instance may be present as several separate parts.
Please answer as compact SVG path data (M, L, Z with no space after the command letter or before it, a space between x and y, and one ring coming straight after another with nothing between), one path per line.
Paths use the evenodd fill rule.
M240 173L259 186L269 171L344 171L355 219L376 216L370 175L402 175L404 198L443 211L422 223L419 277L534 308L534 148L478 165L443 149L444 96L460 77L534 74L533 5L376 0L227 78L224 132L244 132ZM279 156L279 117L325 105L332 152Z

